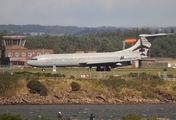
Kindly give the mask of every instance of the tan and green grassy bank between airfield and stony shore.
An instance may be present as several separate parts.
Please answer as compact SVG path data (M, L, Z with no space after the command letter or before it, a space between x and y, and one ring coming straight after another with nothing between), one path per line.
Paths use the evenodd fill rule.
M0 96L12 97L19 94L29 93L27 83L31 80L40 81L46 88L48 95L58 94L60 96L69 93L72 98L95 96L98 94L109 97L124 98L138 96L145 99L163 99L163 95L176 96L176 82L173 80L163 80L157 77L156 69L148 69L146 72L141 72L141 69L121 69L124 75L114 76L113 73L107 73L106 77L100 78L76 78L75 74L67 77L67 72L62 74L42 73L37 71L24 69L14 71L14 74L1 74L0 76ZM36 70L36 71L35 71ZM50 69L48 69L50 70ZM47 70L47 71L48 71ZM76 71L79 70L79 71ZM84 72L80 69L74 70L75 73ZM123 70L123 71L122 71ZM147 70L147 69L146 69ZM117 72L118 70L116 70ZM169 70L168 70L169 71ZM152 72L152 73L149 73ZM174 71L172 71L174 73ZM119 72L118 72L119 73ZM92 72L93 74L93 72ZM96 73L100 74L100 73ZM102 73L102 74L106 74ZM125 76L125 77L124 77ZM78 83L81 88L79 91L71 90L71 83ZM86 93L86 94L85 94ZM162 94L162 95L161 95Z

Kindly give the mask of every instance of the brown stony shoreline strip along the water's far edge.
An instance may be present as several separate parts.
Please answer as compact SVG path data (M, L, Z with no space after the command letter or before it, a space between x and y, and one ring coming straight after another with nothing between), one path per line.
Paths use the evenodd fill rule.
M71 98L59 95L40 96L23 94L13 97L0 97L0 105L123 105L123 104L175 104L175 99L144 99L139 96L114 98L104 95Z

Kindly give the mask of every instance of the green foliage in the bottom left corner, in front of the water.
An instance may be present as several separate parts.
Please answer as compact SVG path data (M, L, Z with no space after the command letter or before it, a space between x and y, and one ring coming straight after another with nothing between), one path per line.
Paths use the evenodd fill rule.
M28 120L23 118L21 114L3 113L0 114L0 120Z

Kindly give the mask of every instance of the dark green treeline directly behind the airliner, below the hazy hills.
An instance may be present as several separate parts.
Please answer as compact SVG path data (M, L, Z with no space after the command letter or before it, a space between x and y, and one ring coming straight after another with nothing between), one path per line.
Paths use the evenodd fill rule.
M154 33L158 33L155 31ZM174 29L164 31L174 33ZM54 53L75 53L76 51L96 51L113 52L122 50L123 41L127 38L138 39L139 34L153 33L149 28L126 29L116 31L105 31L101 33L92 33L88 35L77 36L74 34L63 34L60 36L29 36L25 47L28 49L53 49ZM0 35L8 34L2 31ZM12 34L11 34L12 35ZM151 57L172 57L176 58L176 36L164 36L155 38L150 48ZM126 48L132 44L126 44Z

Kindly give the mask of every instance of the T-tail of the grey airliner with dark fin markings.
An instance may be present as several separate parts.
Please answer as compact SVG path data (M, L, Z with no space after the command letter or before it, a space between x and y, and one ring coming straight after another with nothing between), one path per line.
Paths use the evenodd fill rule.
M130 48L127 48L123 51L131 53L139 53L142 58L147 57L147 52L151 47L151 43L147 38L155 38L159 36L173 35L173 33L159 33L159 34L140 34L139 40Z

